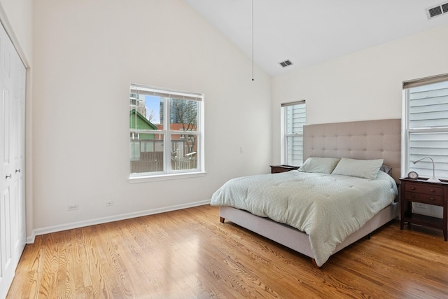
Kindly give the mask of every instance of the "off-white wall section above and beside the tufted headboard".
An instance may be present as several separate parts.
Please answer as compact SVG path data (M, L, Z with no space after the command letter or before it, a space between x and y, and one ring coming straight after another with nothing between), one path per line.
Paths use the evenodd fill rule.
M448 26L272 80L272 162L280 161L280 104L307 101L307 124L401 118L402 82L448 73Z

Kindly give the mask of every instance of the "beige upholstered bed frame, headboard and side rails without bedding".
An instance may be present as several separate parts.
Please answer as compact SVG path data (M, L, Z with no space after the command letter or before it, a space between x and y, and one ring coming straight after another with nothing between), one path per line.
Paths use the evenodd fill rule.
M384 165L392 167L391 175L398 182L401 164L400 119L305 125L303 140L303 160L309 157L384 159ZM371 232L397 218L398 212L398 202L395 200L360 230L349 235L332 254L358 239L370 237ZM312 263L318 267L306 233L232 207L220 207L221 223L224 223L225 219L309 256Z

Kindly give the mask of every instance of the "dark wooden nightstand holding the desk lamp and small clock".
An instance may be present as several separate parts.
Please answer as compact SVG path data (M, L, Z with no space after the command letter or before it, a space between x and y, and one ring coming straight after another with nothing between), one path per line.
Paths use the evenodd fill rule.
M428 182L425 179L400 179L400 228L405 222L427 225L443 230L443 237L448 241L448 182ZM443 218L412 213L412 202L432 204L443 207Z

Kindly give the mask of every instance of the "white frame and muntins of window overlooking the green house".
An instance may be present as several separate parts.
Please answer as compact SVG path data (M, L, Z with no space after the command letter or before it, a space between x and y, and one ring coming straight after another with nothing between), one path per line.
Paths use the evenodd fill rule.
M137 92L142 92L144 95L156 95L163 97L163 118L161 120L163 124L162 130L151 130L151 134L162 134L163 139L163 170L161 172L134 172L132 173L131 161L132 152L131 144L132 139L128 137L128 146L130 147L130 154L127 158L129 163L128 170L128 181L130 183L141 183L146 181L164 181L169 179L183 179L191 178L197 176L204 176L205 172L205 158L204 158L204 94L197 92L187 92L182 90L173 90L169 88L158 88L150 85L140 85L135 83L130 83L130 96ZM139 93L139 92L137 92ZM187 99L195 100L198 102L197 107L197 125L195 131L185 131L185 130L172 130L170 127L171 120L169 115L170 104L172 99ZM131 105L131 104L130 104ZM131 108L131 106L130 106ZM130 133L137 132L142 134L148 134L147 130L135 130L129 127ZM172 147L172 135L196 135L197 139L197 167L195 169L172 169L171 167L171 155L169 154ZM130 135L129 135L130 136ZM152 139L149 139L152 140Z

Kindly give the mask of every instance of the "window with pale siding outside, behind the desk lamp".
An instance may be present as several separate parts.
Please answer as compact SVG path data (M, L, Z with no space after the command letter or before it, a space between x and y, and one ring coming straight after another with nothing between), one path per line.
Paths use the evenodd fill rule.
M404 144L402 176L414 171L448 179L448 75L403 83Z

